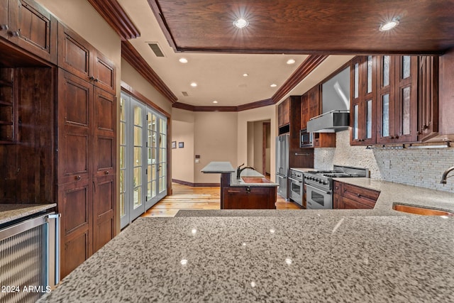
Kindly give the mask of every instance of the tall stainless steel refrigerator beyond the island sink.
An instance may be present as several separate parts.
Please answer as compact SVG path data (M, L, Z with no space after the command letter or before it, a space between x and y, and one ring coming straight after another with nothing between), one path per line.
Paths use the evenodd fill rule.
M276 137L276 183L279 184L277 194L286 200L289 199L289 143L288 133Z

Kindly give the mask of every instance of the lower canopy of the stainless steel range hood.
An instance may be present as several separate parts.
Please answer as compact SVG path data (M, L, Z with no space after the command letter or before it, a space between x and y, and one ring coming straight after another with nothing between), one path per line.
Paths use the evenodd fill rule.
M350 125L350 111L337 109L316 116L307 121L308 133L335 133L348 129Z

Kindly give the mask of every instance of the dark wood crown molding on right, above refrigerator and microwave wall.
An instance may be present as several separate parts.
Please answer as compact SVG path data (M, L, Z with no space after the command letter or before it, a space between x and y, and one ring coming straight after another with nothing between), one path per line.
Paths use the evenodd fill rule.
M313 70L318 67L323 60L325 60L328 55L309 55L309 57L304 60L304 62L299 65L297 70L287 79L284 84L275 92L271 97L272 101L276 104L279 102L286 94L288 94L294 87L296 87L299 82L306 78Z

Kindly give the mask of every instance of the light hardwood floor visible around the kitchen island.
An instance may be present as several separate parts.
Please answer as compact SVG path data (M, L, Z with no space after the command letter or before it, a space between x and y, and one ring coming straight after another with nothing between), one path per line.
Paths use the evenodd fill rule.
M190 187L172 183L173 194L165 197L142 216L175 216L179 209L220 209L219 187ZM277 196L276 209L301 209L294 202L286 202Z

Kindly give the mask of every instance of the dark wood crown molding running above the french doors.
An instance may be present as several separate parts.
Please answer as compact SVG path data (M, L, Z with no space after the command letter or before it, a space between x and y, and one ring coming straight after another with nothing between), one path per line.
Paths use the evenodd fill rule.
M137 50L133 47L129 41L121 41L121 57L128 61L137 72L142 75L158 92L166 97L172 104L175 103L178 98L170 90L169 87L162 81L162 79L156 74L153 68L148 65L148 62L143 59Z

